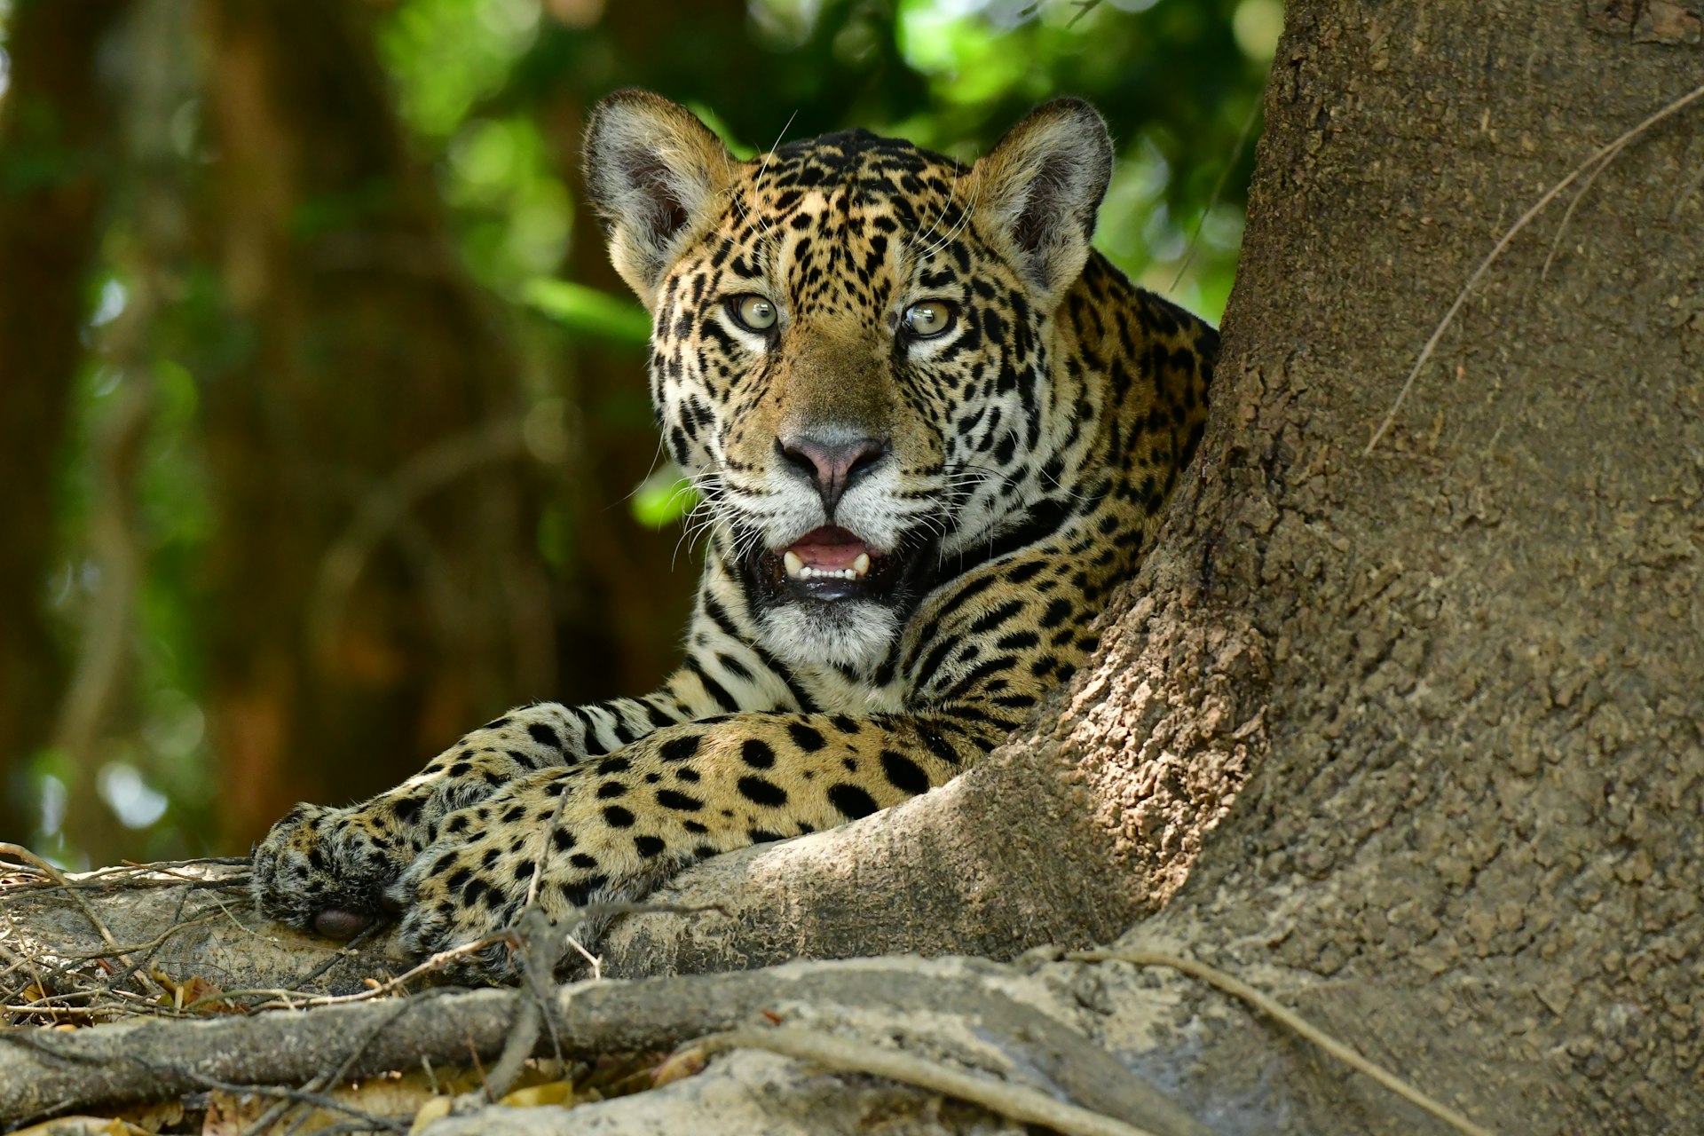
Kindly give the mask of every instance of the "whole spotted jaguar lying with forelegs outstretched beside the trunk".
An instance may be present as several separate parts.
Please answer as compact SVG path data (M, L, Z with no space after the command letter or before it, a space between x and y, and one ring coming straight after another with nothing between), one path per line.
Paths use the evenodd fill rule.
M397 918L503 981L527 904L586 942L600 904L925 794L1022 726L1155 540L1218 354L1091 247L1113 155L1077 99L968 165L864 129L736 160L659 95L600 102L590 199L707 535L685 661L296 806L256 848L259 913Z

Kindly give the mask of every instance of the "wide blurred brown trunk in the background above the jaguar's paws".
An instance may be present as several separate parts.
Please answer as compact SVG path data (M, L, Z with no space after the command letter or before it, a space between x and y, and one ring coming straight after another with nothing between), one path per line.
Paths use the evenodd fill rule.
M206 5L216 244L245 344L206 383L227 840L395 783L554 693L511 354L406 153L368 15Z

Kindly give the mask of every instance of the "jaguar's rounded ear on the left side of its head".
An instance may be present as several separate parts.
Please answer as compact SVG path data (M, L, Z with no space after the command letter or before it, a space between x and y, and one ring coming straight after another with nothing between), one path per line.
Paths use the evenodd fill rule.
M617 90L586 123L586 189L610 223L610 261L651 308L663 273L717 215L733 157L687 107Z

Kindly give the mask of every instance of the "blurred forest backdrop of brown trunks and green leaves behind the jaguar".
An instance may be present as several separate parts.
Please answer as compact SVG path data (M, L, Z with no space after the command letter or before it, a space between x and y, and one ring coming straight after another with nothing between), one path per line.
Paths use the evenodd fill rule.
M746 157L1091 99L1097 245L1217 320L1280 0L0 0L0 840L240 853L649 690L699 554L588 215L642 85Z

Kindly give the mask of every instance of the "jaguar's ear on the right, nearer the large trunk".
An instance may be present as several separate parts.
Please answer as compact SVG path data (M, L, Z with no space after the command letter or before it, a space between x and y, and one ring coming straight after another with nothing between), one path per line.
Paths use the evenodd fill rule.
M1113 175L1113 140L1082 99L1055 99L976 162L978 220L1041 298L1056 303L1089 259L1094 213Z

